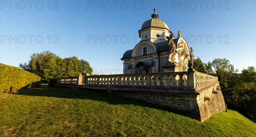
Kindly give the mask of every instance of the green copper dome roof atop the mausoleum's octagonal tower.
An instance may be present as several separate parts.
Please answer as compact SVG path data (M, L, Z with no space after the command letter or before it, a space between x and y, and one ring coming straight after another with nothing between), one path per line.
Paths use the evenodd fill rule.
M141 29L145 29L148 27L158 27L158 28L166 28L169 30L169 27L166 25L166 23L163 22L163 20L160 19L150 19L143 23Z

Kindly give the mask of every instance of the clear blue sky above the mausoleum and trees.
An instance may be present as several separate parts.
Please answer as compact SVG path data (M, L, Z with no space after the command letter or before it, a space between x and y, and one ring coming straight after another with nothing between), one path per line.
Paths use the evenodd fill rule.
M88 61L96 74L120 74L120 58L140 42L154 8L204 63L256 67L255 0L0 0L0 63L19 66L51 51Z

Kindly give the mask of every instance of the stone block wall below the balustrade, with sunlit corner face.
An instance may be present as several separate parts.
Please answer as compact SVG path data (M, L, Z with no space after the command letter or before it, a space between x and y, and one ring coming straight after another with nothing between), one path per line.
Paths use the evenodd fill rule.
M113 91L112 95L142 100L147 103L166 106L177 111L188 112L191 117L204 121L213 114L225 110L225 101L219 83L198 90L199 95Z

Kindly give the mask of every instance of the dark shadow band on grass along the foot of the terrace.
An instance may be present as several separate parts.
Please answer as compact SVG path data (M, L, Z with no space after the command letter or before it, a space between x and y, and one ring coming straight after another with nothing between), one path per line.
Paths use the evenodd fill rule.
M186 117L190 117L190 114L175 111L174 109L158 106L150 103L145 103L140 100L128 99L124 97L110 97L110 94L105 91L89 91L85 89L72 89L72 88L63 88L63 87L49 87L49 88L27 88L21 89L17 93L19 95L26 96L42 96L42 97L58 97L58 98L68 98L68 99L87 99L87 100L97 100L103 101L112 105L117 104L127 104L134 106L143 106L149 108L155 108L163 111L169 111L174 114L180 114Z

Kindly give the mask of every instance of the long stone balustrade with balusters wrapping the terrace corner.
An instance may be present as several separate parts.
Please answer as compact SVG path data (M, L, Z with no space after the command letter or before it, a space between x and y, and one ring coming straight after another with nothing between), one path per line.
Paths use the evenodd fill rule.
M154 86L200 88L218 77L197 71L86 76L85 86Z

